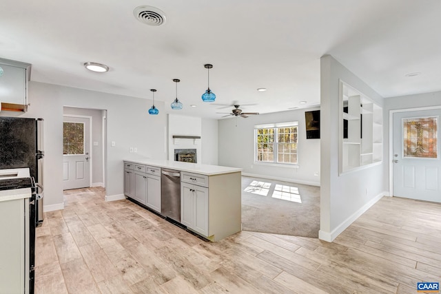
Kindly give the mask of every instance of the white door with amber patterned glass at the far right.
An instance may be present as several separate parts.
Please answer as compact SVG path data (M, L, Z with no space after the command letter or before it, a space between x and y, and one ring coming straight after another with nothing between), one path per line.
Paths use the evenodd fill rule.
M393 196L441 202L440 116L441 109L393 114Z

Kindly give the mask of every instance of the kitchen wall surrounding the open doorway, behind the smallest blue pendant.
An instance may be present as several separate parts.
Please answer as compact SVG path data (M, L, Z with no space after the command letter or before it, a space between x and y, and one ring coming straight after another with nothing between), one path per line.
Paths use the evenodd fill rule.
M155 101L157 116L150 116L152 101L129 96L80 90L59 85L31 82L30 107L22 117L45 120L45 210L63 208L63 105L107 109L107 179L108 198L123 196L123 159L135 156L166 158L164 104ZM10 116L1 112L2 116ZM115 146L111 147L111 141ZM137 147L138 153L129 153Z

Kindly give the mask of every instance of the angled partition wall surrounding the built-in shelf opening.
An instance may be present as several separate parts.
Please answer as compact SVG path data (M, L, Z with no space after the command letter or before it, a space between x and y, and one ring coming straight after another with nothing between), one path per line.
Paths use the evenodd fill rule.
M331 242L381 196L387 195L384 160L380 165L370 165L342 175L338 173L339 79L365 94L380 106L383 105L383 98L332 56L322 57L320 72L319 238Z

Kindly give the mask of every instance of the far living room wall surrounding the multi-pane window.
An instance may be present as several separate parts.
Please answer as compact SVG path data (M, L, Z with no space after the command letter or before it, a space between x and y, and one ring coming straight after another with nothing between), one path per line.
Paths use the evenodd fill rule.
M306 139L305 110L311 109L218 120L219 165L240 167L249 176L319 186L320 174L314 174L320 171L320 139ZM298 121L298 168L254 164L254 125L288 121Z

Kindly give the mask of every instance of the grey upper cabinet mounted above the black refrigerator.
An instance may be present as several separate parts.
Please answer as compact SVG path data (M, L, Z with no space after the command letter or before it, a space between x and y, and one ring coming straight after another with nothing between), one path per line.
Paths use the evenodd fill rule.
M1 109L26 112L31 65L0 59L0 68Z

